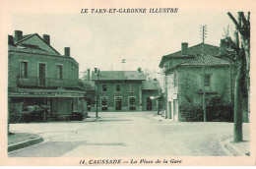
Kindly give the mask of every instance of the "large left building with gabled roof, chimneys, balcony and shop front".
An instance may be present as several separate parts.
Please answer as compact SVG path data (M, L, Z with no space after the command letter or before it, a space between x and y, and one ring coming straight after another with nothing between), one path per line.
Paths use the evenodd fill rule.
M85 91L79 81L79 64L65 47L61 55L50 45L50 36L9 35L8 97L12 111L27 106L49 107L48 117L84 112ZM18 106L19 105L19 106ZM20 107L20 108L18 108Z

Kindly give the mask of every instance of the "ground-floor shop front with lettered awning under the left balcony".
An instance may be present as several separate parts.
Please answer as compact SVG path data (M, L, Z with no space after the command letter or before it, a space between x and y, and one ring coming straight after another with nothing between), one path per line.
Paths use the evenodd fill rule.
M41 111L46 121L63 117L72 120L76 116L81 120L86 112L86 92L81 90L14 88L8 94L10 114L32 115Z

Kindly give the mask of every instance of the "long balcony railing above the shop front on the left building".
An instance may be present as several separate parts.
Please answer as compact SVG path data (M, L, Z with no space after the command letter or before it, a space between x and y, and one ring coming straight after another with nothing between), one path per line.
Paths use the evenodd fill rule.
M79 80L38 78L38 77L18 77L18 86L41 86L41 87L83 87Z

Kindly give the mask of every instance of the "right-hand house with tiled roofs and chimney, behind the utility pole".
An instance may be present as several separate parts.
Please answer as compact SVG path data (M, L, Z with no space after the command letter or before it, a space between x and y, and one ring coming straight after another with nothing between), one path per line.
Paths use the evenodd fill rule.
M202 45L204 45L204 62ZM161 58L165 118L182 120L179 116L180 105L187 103L202 105L203 63L206 96L219 95L231 102L234 71L228 61L215 57L219 52L218 46L210 44L200 43L188 47L188 43L182 43L180 51Z

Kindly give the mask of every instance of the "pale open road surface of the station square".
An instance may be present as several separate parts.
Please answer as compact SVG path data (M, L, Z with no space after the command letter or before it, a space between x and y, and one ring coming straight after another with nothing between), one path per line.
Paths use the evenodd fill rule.
M99 112L96 122L13 124L12 132L39 134L45 141L9 156L225 155L219 142L231 137L232 123L160 121L154 113Z

